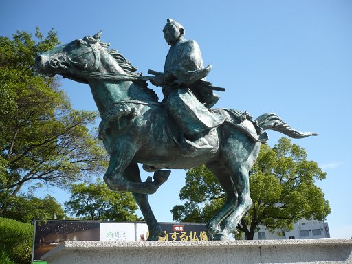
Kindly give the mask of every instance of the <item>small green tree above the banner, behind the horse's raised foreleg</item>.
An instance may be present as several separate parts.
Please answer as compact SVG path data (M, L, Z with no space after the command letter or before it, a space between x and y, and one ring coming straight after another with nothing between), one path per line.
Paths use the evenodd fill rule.
M138 221L130 192L115 192L97 179L96 184L74 184L65 210L72 216L87 220Z

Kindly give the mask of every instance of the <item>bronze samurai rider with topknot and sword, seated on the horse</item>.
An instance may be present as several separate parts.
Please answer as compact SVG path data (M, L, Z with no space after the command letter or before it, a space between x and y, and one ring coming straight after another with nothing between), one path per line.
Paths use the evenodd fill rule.
M205 78L212 65L203 66L199 45L194 40L184 38L184 27L172 19L168 19L163 29L164 38L170 50L166 56L164 72L149 70L157 75L151 78L155 86L162 86L168 115L173 118L184 131L181 144L186 157L201 155L210 151L207 138L217 137L216 128L223 123L224 117L210 112L220 96L213 90L225 91L213 87ZM208 137L205 137L207 134Z

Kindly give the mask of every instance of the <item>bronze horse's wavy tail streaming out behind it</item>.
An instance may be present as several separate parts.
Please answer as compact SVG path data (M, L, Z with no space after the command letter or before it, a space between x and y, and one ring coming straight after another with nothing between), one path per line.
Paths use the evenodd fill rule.
M270 129L278 131L292 138L304 138L311 135L318 135L314 132L300 132L292 129L291 126L283 122L275 113L264 113L255 120L256 124L263 130Z

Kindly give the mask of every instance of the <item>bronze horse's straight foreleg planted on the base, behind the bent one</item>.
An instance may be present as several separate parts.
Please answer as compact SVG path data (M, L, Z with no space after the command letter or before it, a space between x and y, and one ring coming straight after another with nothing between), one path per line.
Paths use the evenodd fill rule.
M138 165L136 163L129 164L126 170L124 170L124 179L137 183L142 182L142 180L140 179L140 169L138 168ZM159 240L159 236L163 235L164 232L162 232L162 228L160 227L159 223L157 223L157 219L155 218L153 211L151 210L151 206L149 205L148 201L148 195L135 192L133 192L132 195L137 205L140 207L144 220L146 221L146 225L148 225L148 240Z

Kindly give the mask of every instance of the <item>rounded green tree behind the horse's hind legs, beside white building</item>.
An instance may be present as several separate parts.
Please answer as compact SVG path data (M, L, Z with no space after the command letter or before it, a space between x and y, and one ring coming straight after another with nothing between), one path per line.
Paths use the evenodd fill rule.
M322 221L331 209L315 181L325 177L316 162L307 160L305 149L287 138L274 148L262 144L250 171L253 206L237 229L250 240L259 225L285 231L292 230L298 219ZM207 222L225 202L225 192L205 166L188 170L179 197L186 203L171 210L175 221Z

